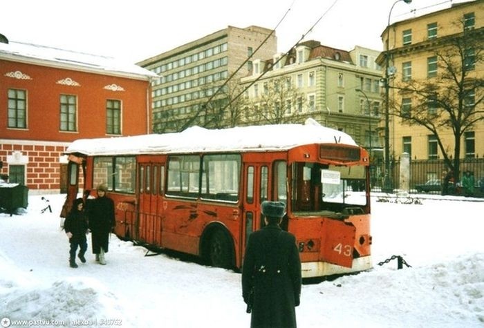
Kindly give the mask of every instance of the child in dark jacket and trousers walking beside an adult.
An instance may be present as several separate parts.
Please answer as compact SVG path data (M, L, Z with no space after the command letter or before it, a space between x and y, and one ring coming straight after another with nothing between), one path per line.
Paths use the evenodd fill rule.
M86 263L84 254L87 250L86 233L88 233L88 222L84 214L84 200L82 198L74 200L71 212L68 213L66 221L64 222L64 230L69 238L69 243L71 243L69 265L71 268L77 268L77 264L75 263L77 247L80 247L78 256L82 263Z

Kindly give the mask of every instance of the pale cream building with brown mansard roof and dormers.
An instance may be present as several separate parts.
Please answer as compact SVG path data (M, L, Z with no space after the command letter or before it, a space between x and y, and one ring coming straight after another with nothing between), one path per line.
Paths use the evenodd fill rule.
M305 41L282 54L254 61L251 75L241 79L254 111L246 122L317 122L344 131L374 153L381 153L376 133L380 120L380 78L377 50L351 51ZM261 58L261 57L259 57Z

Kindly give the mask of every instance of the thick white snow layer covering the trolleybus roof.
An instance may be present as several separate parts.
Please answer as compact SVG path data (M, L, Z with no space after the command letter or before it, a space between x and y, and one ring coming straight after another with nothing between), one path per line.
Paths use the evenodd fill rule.
M357 146L348 134L321 126L314 119L305 124L276 124L207 129L192 126L180 133L78 139L66 153L122 155L150 153L198 153L217 151L273 151L304 144Z

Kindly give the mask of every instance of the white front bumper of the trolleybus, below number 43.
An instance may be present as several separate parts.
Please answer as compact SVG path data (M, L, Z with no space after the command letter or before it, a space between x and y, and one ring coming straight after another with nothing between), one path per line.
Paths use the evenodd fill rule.
M369 270L373 267L371 256L363 256L361 258L354 258L351 268L342 267L337 264L328 262L302 262L301 271L302 278L314 278L322 276L331 276L344 273L355 273Z

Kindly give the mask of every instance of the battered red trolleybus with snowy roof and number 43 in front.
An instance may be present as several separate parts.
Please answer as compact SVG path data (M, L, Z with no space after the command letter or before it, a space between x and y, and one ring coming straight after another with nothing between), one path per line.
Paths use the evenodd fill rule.
M261 202L285 202L304 278L372 267L369 155L340 131L305 124L79 139L68 147L68 195L84 181L115 202L115 234L240 269L263 226Z

